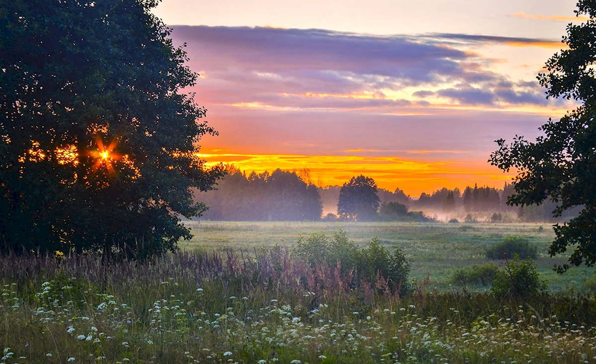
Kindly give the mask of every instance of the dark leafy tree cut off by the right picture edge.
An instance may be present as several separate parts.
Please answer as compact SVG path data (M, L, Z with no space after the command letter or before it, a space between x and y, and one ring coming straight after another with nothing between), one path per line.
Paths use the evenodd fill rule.
M596 18L593 0L580 0L576 15ZM556 235L549 253L554 256L575 249L569 262L558 266L558 272L570 265L596 263L596 21L567 26L563 42L569 49L555 53L547 61L547 72L538 75L547 88L547 97L573 98L582 103L560 120L549 119L541 126L544 135L535 142L516 136L511 144L496 141L499 149L491 154L491 164L502 170L516 169L515 194L508 204L527 206L541 204L548 198L557 203L555 217L576 206L583 207L579 216L554 225Z

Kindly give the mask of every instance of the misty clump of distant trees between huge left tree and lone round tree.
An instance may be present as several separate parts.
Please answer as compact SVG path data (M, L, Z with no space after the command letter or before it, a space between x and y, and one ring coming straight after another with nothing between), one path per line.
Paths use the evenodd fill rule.
M234 166L216 189L197 196L209 210L203 219L232 221L319 220L323 211L318 188L307 173L276 169L249 175ZM306 180L306 182L305 182Z

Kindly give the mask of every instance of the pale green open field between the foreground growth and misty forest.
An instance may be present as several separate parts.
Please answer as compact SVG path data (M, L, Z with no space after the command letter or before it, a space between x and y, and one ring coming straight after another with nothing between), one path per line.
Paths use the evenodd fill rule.
M458 268L498 261L485 257L485 250L503 237L522 236L538 245L535 260L542 279L552 292L583 292L585 281L596 276L594 268L575 267L564 275L552 270L566 257L551 258L548 247L555 238L549 224L490 223L406 223L406 222L185 222L194 234L190 241L179 243L187 251L234 251L254 254L255 249L293 249L297 239L315 233L332 236L339 229L359 245L374 237L392 248L399 245L411 265L411 276L420 280L430 277L430 287L440 291L461 289L449 285L448 278ZM542 229L541 229L542 226ZM483 290L482 287L468 287Z

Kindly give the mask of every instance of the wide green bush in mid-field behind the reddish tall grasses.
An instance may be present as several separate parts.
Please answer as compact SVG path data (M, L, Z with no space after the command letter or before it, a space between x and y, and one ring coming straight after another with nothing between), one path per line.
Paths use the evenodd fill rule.
M375 284L382 278L387 290L397 290L402 294L409 290L409 265L405 254L398 246L390 253L377 238L373 238L368 247L358 248L347 239L342 229L332 239L324 234L313 234L306 239L298 239L296 256L313 266L316 263L339 266L344 273L353 272L356 281L365 279Z

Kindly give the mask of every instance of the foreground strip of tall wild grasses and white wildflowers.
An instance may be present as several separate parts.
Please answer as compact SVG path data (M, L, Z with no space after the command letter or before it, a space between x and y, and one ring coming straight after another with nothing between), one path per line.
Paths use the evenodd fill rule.
M250 259L182 252L108 269L91 256L0 257L0 277L7 363L579 363L596 356L593 296L398 297L338 287L345 275L279 250Z

